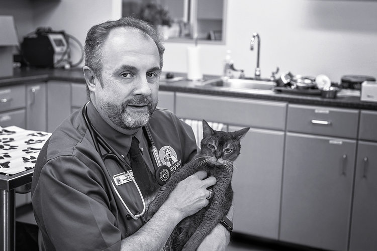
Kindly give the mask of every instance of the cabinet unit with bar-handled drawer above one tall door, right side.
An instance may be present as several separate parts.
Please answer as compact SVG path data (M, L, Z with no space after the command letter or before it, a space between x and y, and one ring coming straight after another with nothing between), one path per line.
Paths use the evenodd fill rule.
M358 110L289 105L280 240L347 250L356 139L339 137L357 121Z

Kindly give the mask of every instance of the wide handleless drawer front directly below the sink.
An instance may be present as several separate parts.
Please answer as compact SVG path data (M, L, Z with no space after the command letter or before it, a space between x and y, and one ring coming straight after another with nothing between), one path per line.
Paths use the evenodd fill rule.
M285 102L176 93L175 113L182 118L284 130L286 110Z

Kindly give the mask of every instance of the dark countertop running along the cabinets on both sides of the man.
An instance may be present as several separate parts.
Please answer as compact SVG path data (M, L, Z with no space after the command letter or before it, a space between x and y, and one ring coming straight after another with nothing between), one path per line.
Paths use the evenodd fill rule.
M185 77L185 74L182 73L176 73L175 75ZM216 77L218 76L205 76L205 79L212 79ZM79 68L69 70L16 68L14 69L14 75L12 77L0 78L0 87L15 84L44 82L48 80L68 81L85 84L82 70ZM254 93L242 90L229 90L223 89L221 87L205 86L202 82L187 81L184 78L183 80L176 82L165 82L163 79L161 79L159 90L275 101L287 101L290 103L297 104L311 104L320 106L377 110L377 102L360 101L360 97L357 96L338 96L335 99L330 99L322 98L319 95L304 95L287 92L267 91Z

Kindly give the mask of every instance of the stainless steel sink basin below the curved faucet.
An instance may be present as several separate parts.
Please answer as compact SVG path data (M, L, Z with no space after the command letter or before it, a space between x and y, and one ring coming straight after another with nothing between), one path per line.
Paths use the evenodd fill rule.
M236 89L236 90L265 90L272 91L273 87L276 85L273 81L264 81L259 79L238 79L230 78L223 79L217 78L208 80L203 83L205 86L214 86L227 89Z

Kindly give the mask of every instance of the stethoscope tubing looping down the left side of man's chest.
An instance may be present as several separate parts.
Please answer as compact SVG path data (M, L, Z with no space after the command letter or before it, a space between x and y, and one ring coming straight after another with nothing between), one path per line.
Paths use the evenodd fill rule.
M145 213L145 211L146 211L146 205L145 205L144 196L142 195L142 193L140 191L140 188L139 188L138 184L136 183L134 177L130 173L131 168L127 167L127 163L124 160L121 159L121 157L119 156L119 154L105 141L104 138L102 138L102 136L97 132L97 130L91 125L89 117L87 116L87 105L88 105L89 102L90 101L88 101L84 105L84 107L82 109L82 115L83 115L84 121L86 123L86 126L88 128L89 134L91 136L91 139L93 141L93 144L95 145L95 148L96 148L97 152L100 154L102 160L104 161L104 164L105 164L105 159L106 158L109 158L109 156L114 156L115 158L113 157L113 159L115 159L118 162L118 164L120 164L120 166L124 169L124 171L129 175L129 177L131 178L132 182L135 184L135 186L137 188L137 191L138 191L138 193L140 195L140 199L141 199L141 201L143 203L143 210L140 213L134 214L134 213L131 212L131 210L127 206L126 202L124 202L122 196L118 192L118 189L114 185L113 181L110 179L111 180L111 184L112 184L113 189L114 189L114 192L117 194L117 196L118 196L119 200L121 201L122 205L126 208L126 211L130 215L130 217L136 220L140 216L142 216ZM95 136L95 133L96 133L97 136ZM148 135L148 138L150 140L151 138L149 136L150 135ZM100 145L99 145L98 141L100 141L101 146L106 150L107 154L102 155L101 149L100 149ZM152 142L152 145L153 145L153 142ZM109 174L109 171L107 170L106 167L105 167L105 169L106 169L106 172L108 173L109 177L111 177L111 175ZM128 169L128 170L126 170L126 169Z

